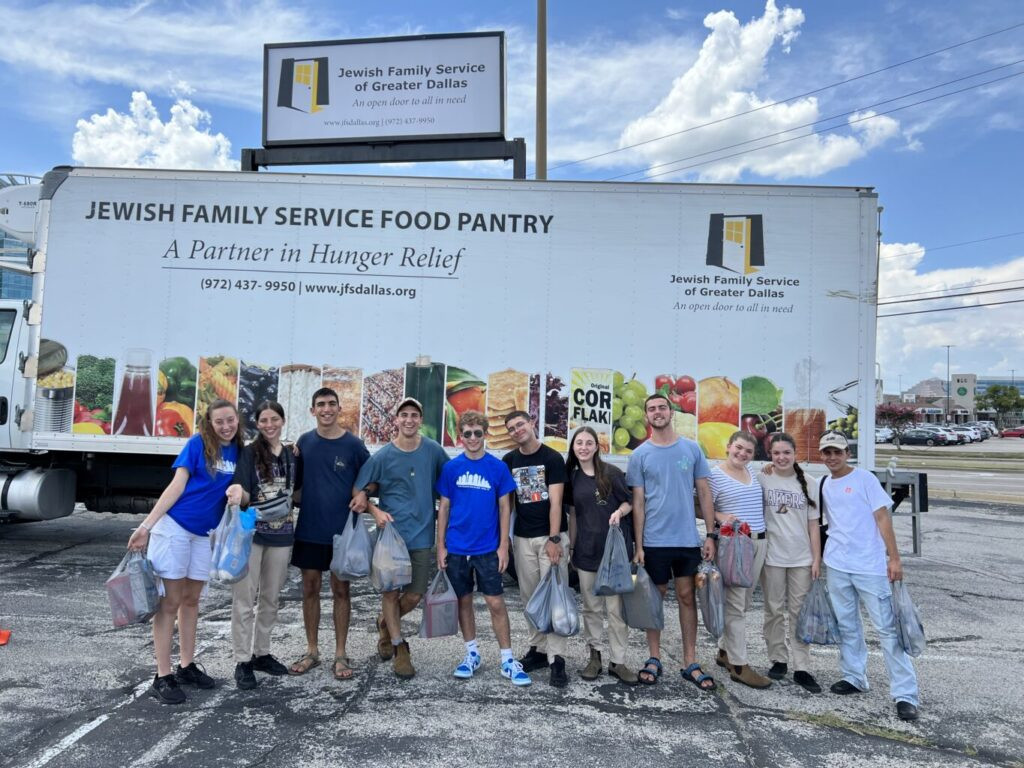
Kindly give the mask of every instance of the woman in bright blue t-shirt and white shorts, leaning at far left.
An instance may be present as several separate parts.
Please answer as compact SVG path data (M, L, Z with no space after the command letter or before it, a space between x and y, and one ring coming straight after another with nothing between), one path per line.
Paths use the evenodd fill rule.
M147 555L161 579L160 607L153 618L157 675L150 694L162 703L181 703L179 683L212 688L214 680L196 666L199 598L210 575L209 532L224 513L224 494L242 447L239 412L214 400L174 461L174 477L153 511L128 540L128 549ZM180 663L171 670L174 621L178 623Z

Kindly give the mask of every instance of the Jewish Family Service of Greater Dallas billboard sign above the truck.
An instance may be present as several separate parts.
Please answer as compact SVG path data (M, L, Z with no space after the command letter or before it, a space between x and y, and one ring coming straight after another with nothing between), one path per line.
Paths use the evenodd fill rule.
M264 146L504 135L503 32L263 48Z

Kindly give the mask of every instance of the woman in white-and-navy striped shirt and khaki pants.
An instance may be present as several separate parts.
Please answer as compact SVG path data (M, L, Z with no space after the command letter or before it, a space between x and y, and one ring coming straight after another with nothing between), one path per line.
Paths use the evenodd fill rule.
M765 562L765 514L761 484L750 469L757 441L750 432L734 432L729 438L726 460L711 472L708 482L715 500L715 519L719 525L734 528L741 523L751 526L754 539L754 574L752 584L761 578ZM740 536L737 531L736 536ZM767 688L771 680L757 673L746 660L746 610L754 588L725 588L725 632L719 639L719 667L729 671L733 682L752 688Z

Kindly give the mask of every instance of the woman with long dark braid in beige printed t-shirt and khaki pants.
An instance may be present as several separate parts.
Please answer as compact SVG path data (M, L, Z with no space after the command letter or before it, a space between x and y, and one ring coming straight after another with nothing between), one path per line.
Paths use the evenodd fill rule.
M818 483L815 478L808 478L797 463L797 443L790 435L774 434L769 453L771 473L763 473L760 478L768 531L768 551L761 572L765 644L772 662L768 677L784 678L792 655L794 681L811 693L820 693L821 686L810 673L811 654L797 637L800 608L811 581L821 573ZM790 614L788 649L785 644L786 612Z

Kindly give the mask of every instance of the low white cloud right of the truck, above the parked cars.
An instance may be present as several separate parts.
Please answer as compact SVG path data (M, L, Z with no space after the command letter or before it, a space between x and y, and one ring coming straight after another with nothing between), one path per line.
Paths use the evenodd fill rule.
M936 296L945 291L964 293L972 289L982 291L1015 286L1024 289L1024 256L992 266L928 271L922 268L924 262L924 249L916 243L883 244L879 300L922 298L924 292L938 292L924 293L924 296ZM884 304L879 307L879 314L977 306L1022 298L1024 290L941 301ZM954 345L950 352L952 372L1009 376L1012 368L1009 360L1024 359L1024 303L880 317L877 358L886 380L886 391L896 391L900 375L904 388L928 376L945 378L946 344Z

